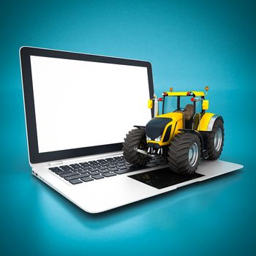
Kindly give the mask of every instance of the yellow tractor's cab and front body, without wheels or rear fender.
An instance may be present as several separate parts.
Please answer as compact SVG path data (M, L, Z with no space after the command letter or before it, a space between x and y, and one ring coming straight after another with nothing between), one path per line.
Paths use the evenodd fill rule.
M206 94L208 87L206 87ZM208 100L203 91L165 91L162 97L154 95L148 108L154 108L154 118L146 124L146 141L150 151L165 148L181 129L197 130ZM162 110L159 110L162 108ZM159 114L159 112L161 114ZM162 151L162 150L161 150Z

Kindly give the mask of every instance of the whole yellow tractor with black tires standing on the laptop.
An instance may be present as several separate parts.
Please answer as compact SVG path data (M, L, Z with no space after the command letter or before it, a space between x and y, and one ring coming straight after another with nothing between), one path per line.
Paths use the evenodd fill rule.
M208 87L206 87L206 94ZM222 116L206 113L208 100L203 91L164 92L162 98L148 100L154 108L154 118L146 127L135 126L124 139L124 158L127 162L143 166L150 157L167 157L170 169L177 173L192 174L200 157L217 159L222 153L224 127ZM167 100L176 99L176 109L164 113ZM190 99L192 104L181 105ZM158 114L162 102L162 115ZM167 104L168 105L168 104ZM197 108L200 108L200 110Z

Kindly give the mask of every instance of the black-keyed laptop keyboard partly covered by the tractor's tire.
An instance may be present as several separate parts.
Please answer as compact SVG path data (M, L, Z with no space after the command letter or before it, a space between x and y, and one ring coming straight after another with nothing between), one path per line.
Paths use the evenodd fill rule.
M80 162L72 165L50 167L49 169L61 178L64 178L64 180L75 185L166 164L167 159L162 157L152 157L148 162L148 165L135 167L129 164L124 157L113 157L89 162Z

